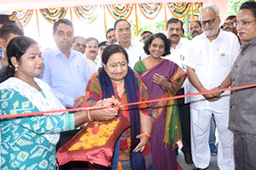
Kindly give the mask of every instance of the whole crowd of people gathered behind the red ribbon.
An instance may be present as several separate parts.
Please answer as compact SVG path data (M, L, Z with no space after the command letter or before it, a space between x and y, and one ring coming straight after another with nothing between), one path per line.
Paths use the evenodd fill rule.
M192 40L183 37L183 21L172 18L166 35L143 31L137 42L121 19L99 42L74 37L73 23L61 19L53 26L55 48L41 52L15 20L1 16L0 115L104 107L0 119L1 169L176 170L177 148L195 170L207 169L211 155L221 170L256 169L255 87L212 92L255 84L256 2L242 3L220 24L213 5L189 23ZM165 100L202 92L208 93ZM163 100L117 105L148 99ZM117 139L111 167L58 166L56 150L84 123L116 116L131 127Z

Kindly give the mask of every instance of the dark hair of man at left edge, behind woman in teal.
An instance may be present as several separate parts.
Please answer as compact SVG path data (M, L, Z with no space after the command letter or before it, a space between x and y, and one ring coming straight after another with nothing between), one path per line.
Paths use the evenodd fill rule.
M13 33L15 35L24 36L24 32L20 30L16 24L7 24L0 28L0 37L5 41L9 38L9 35Z

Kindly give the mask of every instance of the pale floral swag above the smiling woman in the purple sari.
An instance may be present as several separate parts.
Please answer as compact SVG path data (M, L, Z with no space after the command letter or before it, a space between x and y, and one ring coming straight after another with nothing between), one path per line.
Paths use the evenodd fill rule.
M138 6L145 18L148 20L154 20L154 18L160 13L163 3L140 3Z

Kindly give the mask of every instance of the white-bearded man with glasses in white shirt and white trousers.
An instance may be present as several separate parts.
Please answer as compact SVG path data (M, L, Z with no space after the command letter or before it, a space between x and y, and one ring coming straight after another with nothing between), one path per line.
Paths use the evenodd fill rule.
M201 11L203 33L192 40L187 65L191 93L230 86L230 70L239 54L237 37L219 29L218 8L210 6ZM191 150L197 169L209 166L211 153L208 144L212 114L218 129L218 167L235 169L233 133L228 129L230 92L204 94L190 99ZM196 169L196 168L195 168Z

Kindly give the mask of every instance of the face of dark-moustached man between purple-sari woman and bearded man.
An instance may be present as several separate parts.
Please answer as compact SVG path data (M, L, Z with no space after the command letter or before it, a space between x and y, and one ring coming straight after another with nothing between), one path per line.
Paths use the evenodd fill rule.
M168 27L166 29L167 37L171 40L173 43L179 42L180 38L183 35L183 29L181 27L181 23L171 23L168 24Z

